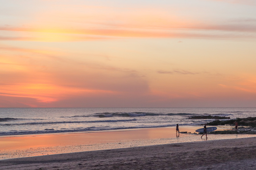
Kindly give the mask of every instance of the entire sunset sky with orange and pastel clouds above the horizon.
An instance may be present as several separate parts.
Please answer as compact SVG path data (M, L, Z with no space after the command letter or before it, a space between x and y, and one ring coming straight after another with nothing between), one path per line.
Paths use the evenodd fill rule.
M0 107L255 107L255 0L0 0Z

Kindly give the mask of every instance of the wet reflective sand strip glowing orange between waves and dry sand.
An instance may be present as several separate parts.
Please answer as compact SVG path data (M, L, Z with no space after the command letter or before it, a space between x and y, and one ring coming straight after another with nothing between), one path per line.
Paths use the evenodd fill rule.
M183 126L180 131L193 133L201 126ZM122 129L112 131L90 131L77 133L52 133L37 135L15 135L0 137L0 160L29 156L63 154L134 146L162 145L205 141L198 134L177 134L175 127ZM217 130L230 129L218 127ZM208 141L219 139L255 137L256 135L210 135Z

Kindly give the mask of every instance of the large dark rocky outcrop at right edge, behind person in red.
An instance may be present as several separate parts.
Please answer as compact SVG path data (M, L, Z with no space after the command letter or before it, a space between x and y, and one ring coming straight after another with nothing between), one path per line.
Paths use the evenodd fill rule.
M218 125L234 125L235 121L238 122L239 126L250 126L256 127L256 117L248 117L248 118L236 118L231 120L214 120L212 122L207 123L208 126L218 126Z

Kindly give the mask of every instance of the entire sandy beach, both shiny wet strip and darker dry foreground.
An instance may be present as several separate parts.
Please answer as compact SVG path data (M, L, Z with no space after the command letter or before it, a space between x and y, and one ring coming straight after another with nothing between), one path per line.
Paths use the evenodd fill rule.
M176 135L173 127L5 136L0 169L255 168L255 135L207 137Z

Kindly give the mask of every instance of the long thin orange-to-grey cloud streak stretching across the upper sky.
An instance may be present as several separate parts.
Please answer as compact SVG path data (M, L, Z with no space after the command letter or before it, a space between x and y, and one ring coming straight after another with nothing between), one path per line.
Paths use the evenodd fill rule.
M1 28L0 28L1 29ZM185 29L185 31L184 31ZM201 31L199 31L201 30ZM212 31L216 32L212 32ZM84 30L60 30L51 33L51 36L37 35L33 37L0 37L0 40L16 41L45 41L45 42L69 42L69 41L98 41L118 38L205 38L205 39L234 39L255 38L256 26L251 25L202 25L169 30L132 30L132 29L84 29ZM14 30L12 30L14 31ZM37 32L36 30L26 31ZM218 32L224 31L224 32ZM235 32L234 32L235 31ZM238 31L238 32L237 32ZM39 31L41 32L41 31ZM62 32L62 35L59 35ZM46 32L47 33L47 32ZM54 36L53 36L54 35Z

